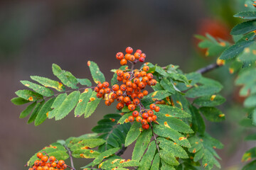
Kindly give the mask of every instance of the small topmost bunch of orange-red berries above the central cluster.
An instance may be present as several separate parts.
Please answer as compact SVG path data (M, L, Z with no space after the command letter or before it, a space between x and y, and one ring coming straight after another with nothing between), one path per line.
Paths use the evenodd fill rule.
M142 53L142 50L136 50L136 52L134 52L134 55L132 55L133 49L132 47L127 47L125 52L127 52L126 55L124 55L124 53L122 52L117 52L117 60L120 60L120 64L121 65L126 65L127 61L130 62L144 62L145 58L146 58L146 54Z

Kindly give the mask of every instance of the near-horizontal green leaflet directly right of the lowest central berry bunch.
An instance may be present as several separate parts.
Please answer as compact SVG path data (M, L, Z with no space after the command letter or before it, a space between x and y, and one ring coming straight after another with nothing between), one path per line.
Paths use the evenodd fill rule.
M187 113L186 111L181 110L180 108L176 108L173 106L167 106L167 105L156 105L160 107L160 111L157 114L157 116L165 116L165 117L176 117L176 118L190 118L191 115Z

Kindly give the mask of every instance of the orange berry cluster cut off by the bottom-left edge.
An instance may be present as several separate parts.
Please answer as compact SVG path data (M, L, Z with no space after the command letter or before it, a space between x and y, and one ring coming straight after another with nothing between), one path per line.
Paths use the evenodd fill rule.
M33 167L28 170L63 170L67 168L67 165L63 160L56 160L53 156L43 155L41 152L36 154L38 160L33 164Z

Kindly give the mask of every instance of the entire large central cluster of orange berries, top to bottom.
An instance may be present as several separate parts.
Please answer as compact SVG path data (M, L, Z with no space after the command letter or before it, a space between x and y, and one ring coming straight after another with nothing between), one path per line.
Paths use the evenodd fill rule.
M118 60L121 60L121 65L127 64L127 61L134 65L137 61L144 62L146 58L142 50L137 50L134 55L132 55L132 47L127 47L126 52L127 54L125 56L122 52L117 52L116 57ZM154 108L147 111L140 103L140 99L149 94L148 91L144 90L146 86L155 86L157 83L156 80L153 79L153 74L149 73L149 66L144 66L142 69L131 69L129 72L117 70L116 74L117 81L122 81L122 85L114 84L110 89L110 84L107 81L97 84L95 87L97 98L105 98L106 106L110 106L114 100L117 100L119 102L117 103L118 110L122 110L124 105L126 105L129 111L134 111L137 106L139 106L139 108L141 108L140 111L134 111L133 116L129 117L129 121L132 122L134 118L136 118L137 122L142 123L142 128L148 129L148 123L156 121L154 111L157 112L160 109L154 105Z

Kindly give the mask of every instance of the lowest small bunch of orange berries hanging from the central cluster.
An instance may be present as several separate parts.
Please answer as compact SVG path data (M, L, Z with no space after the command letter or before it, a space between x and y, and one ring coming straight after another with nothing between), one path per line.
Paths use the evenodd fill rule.
M143 129L146 129L146 130L149 129L149 123L155 122L157 119L157 116L154 115L154 111L156 111L156 112L160 111L159 106L156 106L154 103L152 103L149 106L149 108L150 108L149 110L144 109L140 112L133 111L132 115L130 115L128 118L129 122L133 122L134 118L136 118L136 121L138 123L142 123Z

